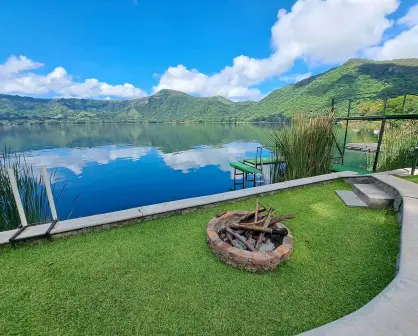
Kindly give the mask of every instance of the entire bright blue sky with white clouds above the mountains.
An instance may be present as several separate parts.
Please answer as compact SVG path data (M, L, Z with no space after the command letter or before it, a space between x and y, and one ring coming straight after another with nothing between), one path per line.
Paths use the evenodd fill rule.
M416 0L2 0L0 93L260 100L348 59L418 58Z

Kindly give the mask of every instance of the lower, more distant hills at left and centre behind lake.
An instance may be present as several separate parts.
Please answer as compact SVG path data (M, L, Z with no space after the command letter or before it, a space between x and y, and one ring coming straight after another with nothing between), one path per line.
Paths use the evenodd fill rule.
M255 102L200 98L161 90L133 100L40 99L0 95L0 120L9 121L233 121Z

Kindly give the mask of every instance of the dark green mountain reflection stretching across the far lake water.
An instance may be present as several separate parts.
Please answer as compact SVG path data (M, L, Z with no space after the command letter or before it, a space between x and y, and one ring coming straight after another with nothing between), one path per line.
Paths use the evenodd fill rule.
M1 127L1 126L0 126ZM129 144L157 147L165 153L233 141L268 143L268 133L279 125L254 124L80 124L3 126L0 145L15 151L45 148L96 147Z

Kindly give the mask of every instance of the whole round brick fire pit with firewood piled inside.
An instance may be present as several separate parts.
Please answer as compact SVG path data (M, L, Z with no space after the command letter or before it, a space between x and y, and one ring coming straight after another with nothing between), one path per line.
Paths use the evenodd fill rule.
M228 211L207 225L209 248L224 263L251 272L277 268L289 258L293 238L282 223L292 216L273 217L274 210Z

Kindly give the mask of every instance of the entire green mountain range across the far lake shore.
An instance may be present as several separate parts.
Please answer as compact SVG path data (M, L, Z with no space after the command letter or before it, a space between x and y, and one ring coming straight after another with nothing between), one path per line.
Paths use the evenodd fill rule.
M386 62L352 59L325 73L273 91L259 102L232 102L220 96L200 98L162 90L133 100L40 99L0 95L0 120L6 122L169 122L274 121L294 113L377 112L388 95L388 108L418 108L418 59Z

